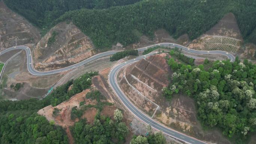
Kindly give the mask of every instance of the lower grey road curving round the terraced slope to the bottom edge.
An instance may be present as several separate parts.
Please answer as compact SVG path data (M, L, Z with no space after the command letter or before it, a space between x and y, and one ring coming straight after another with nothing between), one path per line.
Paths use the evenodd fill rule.
M190 137L188 135L182 134L180 132L174 131L173 129L170 129L158 122L156 122L155 120L153 120L151 117L147 116L145 113L143 113L142 111L139 110L139 108L135 107L134 104L129 101L129 99L127 98L127 96L125 96L124 92L120 89L118 82L116 80L116 76L118 74L118 71L121 70L122 67L124 67L125 65L129 65L133 62L136 62L140 59L145 58L146 56L150 56L153 55L155 53L150 53L148 55L143 55L143 56L139 56L135 59L131 59L129 61L123 62L117 66L115 66L109 73L109 82L110 82L110 86L112 87L113 91L115 91L116 95L119 97L119 99L121 100L121 102L125 105L125 107L127 107L127 109L134 114L135 117L137 117L140 121L146 123L147 125L151 125L153 128L164 132L165 134L179 139L181 141L184 141L185 143L189 143L189 144L207 144L204 141L198 140L196 138Z

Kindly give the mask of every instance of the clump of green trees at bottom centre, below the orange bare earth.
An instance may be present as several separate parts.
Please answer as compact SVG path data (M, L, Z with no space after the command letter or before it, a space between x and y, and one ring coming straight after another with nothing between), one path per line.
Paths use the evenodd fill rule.
M94 124L81 120L71 128L76 144L115 144L125 141L128 128L124 122L109 117L95 118Z

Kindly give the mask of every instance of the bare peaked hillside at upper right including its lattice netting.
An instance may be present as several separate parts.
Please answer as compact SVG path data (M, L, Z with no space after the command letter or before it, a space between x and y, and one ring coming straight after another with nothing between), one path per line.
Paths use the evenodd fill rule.
M255 59L253 56L256 45L246 43L240 33L235 15L228 13L210 30L189 43L188 48L200 50L220 49L233 52L242 59Z

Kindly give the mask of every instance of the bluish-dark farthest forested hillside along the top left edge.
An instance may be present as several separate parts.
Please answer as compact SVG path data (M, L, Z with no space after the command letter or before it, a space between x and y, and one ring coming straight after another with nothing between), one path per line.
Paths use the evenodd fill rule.
M137 1L139 0L4 0L4 3L37 27L47 29L54 19L70 10L106 9Z

